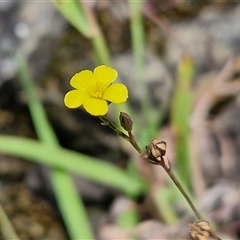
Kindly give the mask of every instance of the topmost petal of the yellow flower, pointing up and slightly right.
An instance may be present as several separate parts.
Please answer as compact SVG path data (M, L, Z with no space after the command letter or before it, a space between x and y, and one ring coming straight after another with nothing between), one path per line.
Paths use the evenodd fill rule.
M103 93L116 80L118 73L113 68L101 65L94 69L94 76L98 84L97 90Z

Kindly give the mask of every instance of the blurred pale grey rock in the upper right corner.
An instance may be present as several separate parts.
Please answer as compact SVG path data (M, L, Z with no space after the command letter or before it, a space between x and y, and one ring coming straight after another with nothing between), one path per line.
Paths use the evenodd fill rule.
M175 66L183 51L193 56L198 71L222 67L240 52L240 6L208 6L191 20L170 24L174 38L166 42L166 60Z

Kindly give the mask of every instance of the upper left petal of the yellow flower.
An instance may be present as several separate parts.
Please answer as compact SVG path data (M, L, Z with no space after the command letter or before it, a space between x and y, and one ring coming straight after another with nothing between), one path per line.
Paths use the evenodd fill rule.
M71 86L76 89L85 89L95 82L93 73L90 70L83 70L76 73L70 80Z

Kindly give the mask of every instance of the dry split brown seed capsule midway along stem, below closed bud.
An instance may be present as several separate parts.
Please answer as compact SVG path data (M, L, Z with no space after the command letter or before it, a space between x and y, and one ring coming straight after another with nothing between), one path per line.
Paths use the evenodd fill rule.
M156 139L152 140L150 144L146 146L149 159L156 163L162 160L162 157L166 153L166 146L167 144L164 141L158 141Z

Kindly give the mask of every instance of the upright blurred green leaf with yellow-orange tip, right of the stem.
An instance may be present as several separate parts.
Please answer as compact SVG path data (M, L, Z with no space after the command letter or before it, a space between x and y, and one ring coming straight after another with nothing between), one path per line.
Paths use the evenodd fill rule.
M189 133L192 107L193 62L184 56L177 69L177 82L173 94L171 121L176 134L176 168L187 187L190 186Z

